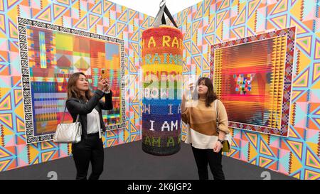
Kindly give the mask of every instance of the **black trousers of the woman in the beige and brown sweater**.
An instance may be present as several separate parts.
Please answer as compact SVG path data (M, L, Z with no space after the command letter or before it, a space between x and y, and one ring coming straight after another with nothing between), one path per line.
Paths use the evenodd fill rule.
M192 146L191 146L192 147ZM196 149L192 147L196 159L198 176L200 180L208 180L208 163L215 180L225 180L222 166L222 150L215 153L213 149Z

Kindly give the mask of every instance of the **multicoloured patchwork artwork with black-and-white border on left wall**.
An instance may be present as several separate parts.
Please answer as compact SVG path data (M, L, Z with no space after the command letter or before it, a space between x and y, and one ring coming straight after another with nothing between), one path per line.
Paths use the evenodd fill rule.
M95 91L107 71L114 108L102 117L107 130L126 127L123 40L27 18L18 18L18 33L27 144L53 139L74 72L84 72Z

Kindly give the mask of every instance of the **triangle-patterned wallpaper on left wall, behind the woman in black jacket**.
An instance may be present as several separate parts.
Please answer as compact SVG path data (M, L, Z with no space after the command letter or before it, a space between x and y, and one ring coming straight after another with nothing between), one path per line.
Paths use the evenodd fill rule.
M52 161L71 153L70 144L26 144L18 17L123 40L125 127L107 131L102 141L105 147L111 147L141 139L139 42L154 18L106 0L0 0L0 171Z

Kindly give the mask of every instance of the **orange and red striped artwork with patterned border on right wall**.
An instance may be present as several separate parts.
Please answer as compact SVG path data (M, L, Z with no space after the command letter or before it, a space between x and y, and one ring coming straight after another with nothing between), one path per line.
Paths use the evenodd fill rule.
M229 126L288 136L295 27L211 46L210 76Z

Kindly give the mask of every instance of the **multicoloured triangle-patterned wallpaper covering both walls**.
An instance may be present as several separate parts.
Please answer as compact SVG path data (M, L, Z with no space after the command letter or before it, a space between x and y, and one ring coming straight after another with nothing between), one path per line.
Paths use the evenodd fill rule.
M232 129L228 156L294 178L320 179L319 11L319 0L204 0L174 15L187 76L210 75L210 45L297 28L289 136ZM126 129L102 139L105 147L140 140L139 41L154 18L105 0L0 0L0 171L63 158L71 149L52 141L26 144L17 16L124 40Z

